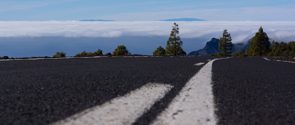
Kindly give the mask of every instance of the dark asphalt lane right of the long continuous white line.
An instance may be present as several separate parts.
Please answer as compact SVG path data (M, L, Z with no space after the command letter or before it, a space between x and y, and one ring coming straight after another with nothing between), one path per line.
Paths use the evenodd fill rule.
M295 64L262 57L216 60L219 125L294 125Z

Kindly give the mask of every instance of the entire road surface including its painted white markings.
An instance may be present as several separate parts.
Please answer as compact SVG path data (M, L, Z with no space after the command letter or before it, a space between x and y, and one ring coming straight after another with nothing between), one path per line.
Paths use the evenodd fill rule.
M0 124L294 124L294 66L207 56L0 61Z

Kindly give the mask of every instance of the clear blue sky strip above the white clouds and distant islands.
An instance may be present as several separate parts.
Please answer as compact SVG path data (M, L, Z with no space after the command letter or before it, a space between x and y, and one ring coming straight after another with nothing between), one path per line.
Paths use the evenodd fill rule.
M1 0L0 21L295 21L294 0Z

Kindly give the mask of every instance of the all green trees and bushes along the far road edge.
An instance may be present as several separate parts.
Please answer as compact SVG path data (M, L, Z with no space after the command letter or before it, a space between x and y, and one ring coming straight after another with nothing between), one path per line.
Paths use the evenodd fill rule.
M162 46L159 46L154 52L153 56L185 56L186 53L182 49L183 42L180 40L180 37L177 36L179 34L178 24L174 22L174 26L172 26L172 30L170 33L170 37L166 44L166 49ZM278 56L278 55L295 55L295 42L291 41L288 43L285 42L275 42L269 41L269 38L265 32L263 32L263 28L260 27L258 32L256 32L255 36L252 38L250 42L249 48L246 51L243 50L238 53L232 53L232 38L230 33L227 32L227 29L223 30L223 35L220 37L220 41L218 44L218 50L221 52L217 54L210 54L210 56L233 56L233 57L244 57L244 56ZM83 51L82 53L78 53L76 57L83 57L88 55L102 55L102 50L98 49L98 51L94 53L87 53ZM115 51L111 53L107 53L107 55L127 55L130 56L131 53L126 49L126 46L121 45L118 46ZM66 53L57 52L53 57L65 57Z

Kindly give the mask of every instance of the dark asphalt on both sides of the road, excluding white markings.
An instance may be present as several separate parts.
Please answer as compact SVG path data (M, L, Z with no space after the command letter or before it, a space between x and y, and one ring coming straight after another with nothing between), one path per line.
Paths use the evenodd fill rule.
M51 124L147 83L173 86L133 123L149 124L214 58L220 57L0 61L0 124ZM294 124L294 65L262 57L214 61L212 88L217 124Z

